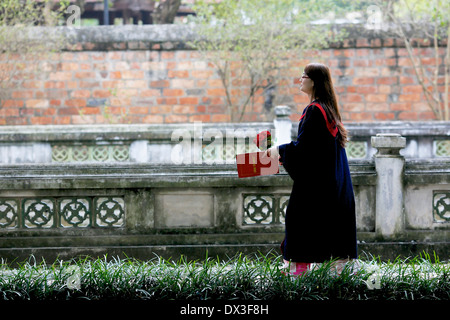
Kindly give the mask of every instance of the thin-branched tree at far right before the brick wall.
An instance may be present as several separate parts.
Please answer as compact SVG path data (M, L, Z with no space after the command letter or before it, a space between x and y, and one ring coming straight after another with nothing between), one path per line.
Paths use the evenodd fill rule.
M403 40L417 81L434 115L439 120L450 120L450 2L377 0L375 3L384 18L380 27ZM421 55L414 50L424 46L433 50L432 64L425 65Z

